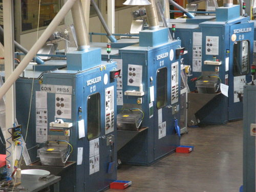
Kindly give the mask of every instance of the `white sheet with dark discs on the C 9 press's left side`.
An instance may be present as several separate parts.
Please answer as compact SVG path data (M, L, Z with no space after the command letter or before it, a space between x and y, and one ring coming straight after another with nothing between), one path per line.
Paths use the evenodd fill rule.
M219 36L205 37L206 55L219 55Z

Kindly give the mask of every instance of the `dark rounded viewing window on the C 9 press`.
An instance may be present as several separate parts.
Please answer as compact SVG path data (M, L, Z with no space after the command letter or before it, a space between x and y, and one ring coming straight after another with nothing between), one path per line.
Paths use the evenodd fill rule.
M249 73L250 42L248 40L234 42L233 75L240 76Z

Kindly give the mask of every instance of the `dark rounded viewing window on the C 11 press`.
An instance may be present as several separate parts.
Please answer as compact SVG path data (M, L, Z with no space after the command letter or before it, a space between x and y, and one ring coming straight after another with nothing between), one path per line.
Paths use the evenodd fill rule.
M157 109L163 108L167 103L167 69L157 71Z

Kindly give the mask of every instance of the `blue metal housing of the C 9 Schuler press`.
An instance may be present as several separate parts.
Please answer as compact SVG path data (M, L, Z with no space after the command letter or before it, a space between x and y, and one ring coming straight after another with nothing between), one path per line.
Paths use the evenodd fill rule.
M230 8L237 9L237 6ZM228 10L223 9L221 10ZM218 12L219 13L219 12ZM217 16L218 16L217 13ZM240 40L247 40L249 42L249 65L252 63L253 53L253 24L249 22L249 17L238 17L236 19L225 20L225 22L217 22L212 16L204 16L209 21L200 23L201 17L198 19L199 23L196 24L197 16L194 19L190 19L193 23L188 23L188 19L171 19L169 22L169 29L171 31L171 25L176 24L175 36L181 39L182 47L185 47L188 51L187 55L184 55L185 65L190 65L193 71L193 76L188 78L188 86L190 91L196 89L195 82L191 82L190 79L194 77L200 77L202 72L215 72L216 66L204 65L205 60L212 60L213 55L206 53L206 36L215 36L219 38L219 51L216 54L217 59L222 63L219 66L219 77L221 82L229 86L228 95L219 95L210 102L208 102L196 116L200 119L201 123L208 124L220 124L226 123L228 120L240 119L243 117L242 102L234 102L234 75L233 75L233 47L236 42ZM218 16L219 17L219 16ZM229 17L234 18L235 16ZM251 31L240 31L237 33L237 29L252 29ZM195 32L202 33L202 72L195 72L193 69L193 34ZM172 32L171 32L172 33ZM236 39L232 41L232 35L236 35ZM234 36L233 35L233 36ZM228 63L226 63L228 62ZM251 80L250 72L246 74L246 82Z

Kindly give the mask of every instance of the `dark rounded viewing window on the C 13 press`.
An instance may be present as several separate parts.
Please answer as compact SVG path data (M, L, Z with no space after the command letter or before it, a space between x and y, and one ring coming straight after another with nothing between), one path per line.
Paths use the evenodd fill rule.
M100 135L100 94L90 95L87 100L87 137L89 140Z

